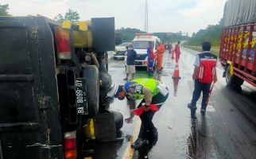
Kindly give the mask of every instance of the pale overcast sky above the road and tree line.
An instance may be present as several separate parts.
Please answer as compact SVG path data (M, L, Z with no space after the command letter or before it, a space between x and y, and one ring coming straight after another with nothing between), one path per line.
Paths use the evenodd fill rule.
M149 33L196 33L216 25L223 17L227 0L148 0ZM80 20L91 17L114 17L115 28L144 29L145 0L0 0L9 4L14 16L41 14L53 18L70 8Z

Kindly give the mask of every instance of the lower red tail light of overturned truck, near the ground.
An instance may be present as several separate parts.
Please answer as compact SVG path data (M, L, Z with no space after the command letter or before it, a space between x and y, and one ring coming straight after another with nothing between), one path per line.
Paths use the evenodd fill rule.
M76 131L64 134L64 153L65 159L76 159Z

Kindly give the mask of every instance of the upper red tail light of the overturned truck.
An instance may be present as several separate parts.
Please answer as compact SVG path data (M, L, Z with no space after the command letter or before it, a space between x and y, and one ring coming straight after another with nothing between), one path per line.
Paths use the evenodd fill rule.
M69 32L63 28L56 28L57 57L60 60L71 60L71 48Z

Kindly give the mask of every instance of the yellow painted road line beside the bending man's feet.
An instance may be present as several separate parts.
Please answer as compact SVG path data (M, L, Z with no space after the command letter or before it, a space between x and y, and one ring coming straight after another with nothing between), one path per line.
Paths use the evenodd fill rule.
M135 140L138 138L138 133L139 133L140 127L141 127L141 122L140 121L136 122L133 135L131 136L130 141L128 142L125 153L123 153L123 155L122 155L122 159L132 159L133 158L134 149L132 149L130 147L130 145L133 142L135 142Z

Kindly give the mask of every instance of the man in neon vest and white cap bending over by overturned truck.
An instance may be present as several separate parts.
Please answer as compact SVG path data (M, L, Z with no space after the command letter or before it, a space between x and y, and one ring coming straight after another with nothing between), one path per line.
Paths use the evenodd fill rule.
M131 145L132 148L138 149L142 147L142 145L145 145L145 136L147 132L151 137L150 139L152 144L156 144L158 133L157 128L152 122L155 111L150 110L150 104L157 104L157 107L160 108L162 103L164 103L168 98L168 95L169 91L167 87L165 87L165 84L153 79L131 80L125 83L125 85L112 87L111 91L108 93L108 96L114 96L114 98L118 98L119 100L125 98L135 100L142 99L142 102L138 105L138 107L143 107L143 112L140 115L142 125L138 134L138 139Z

